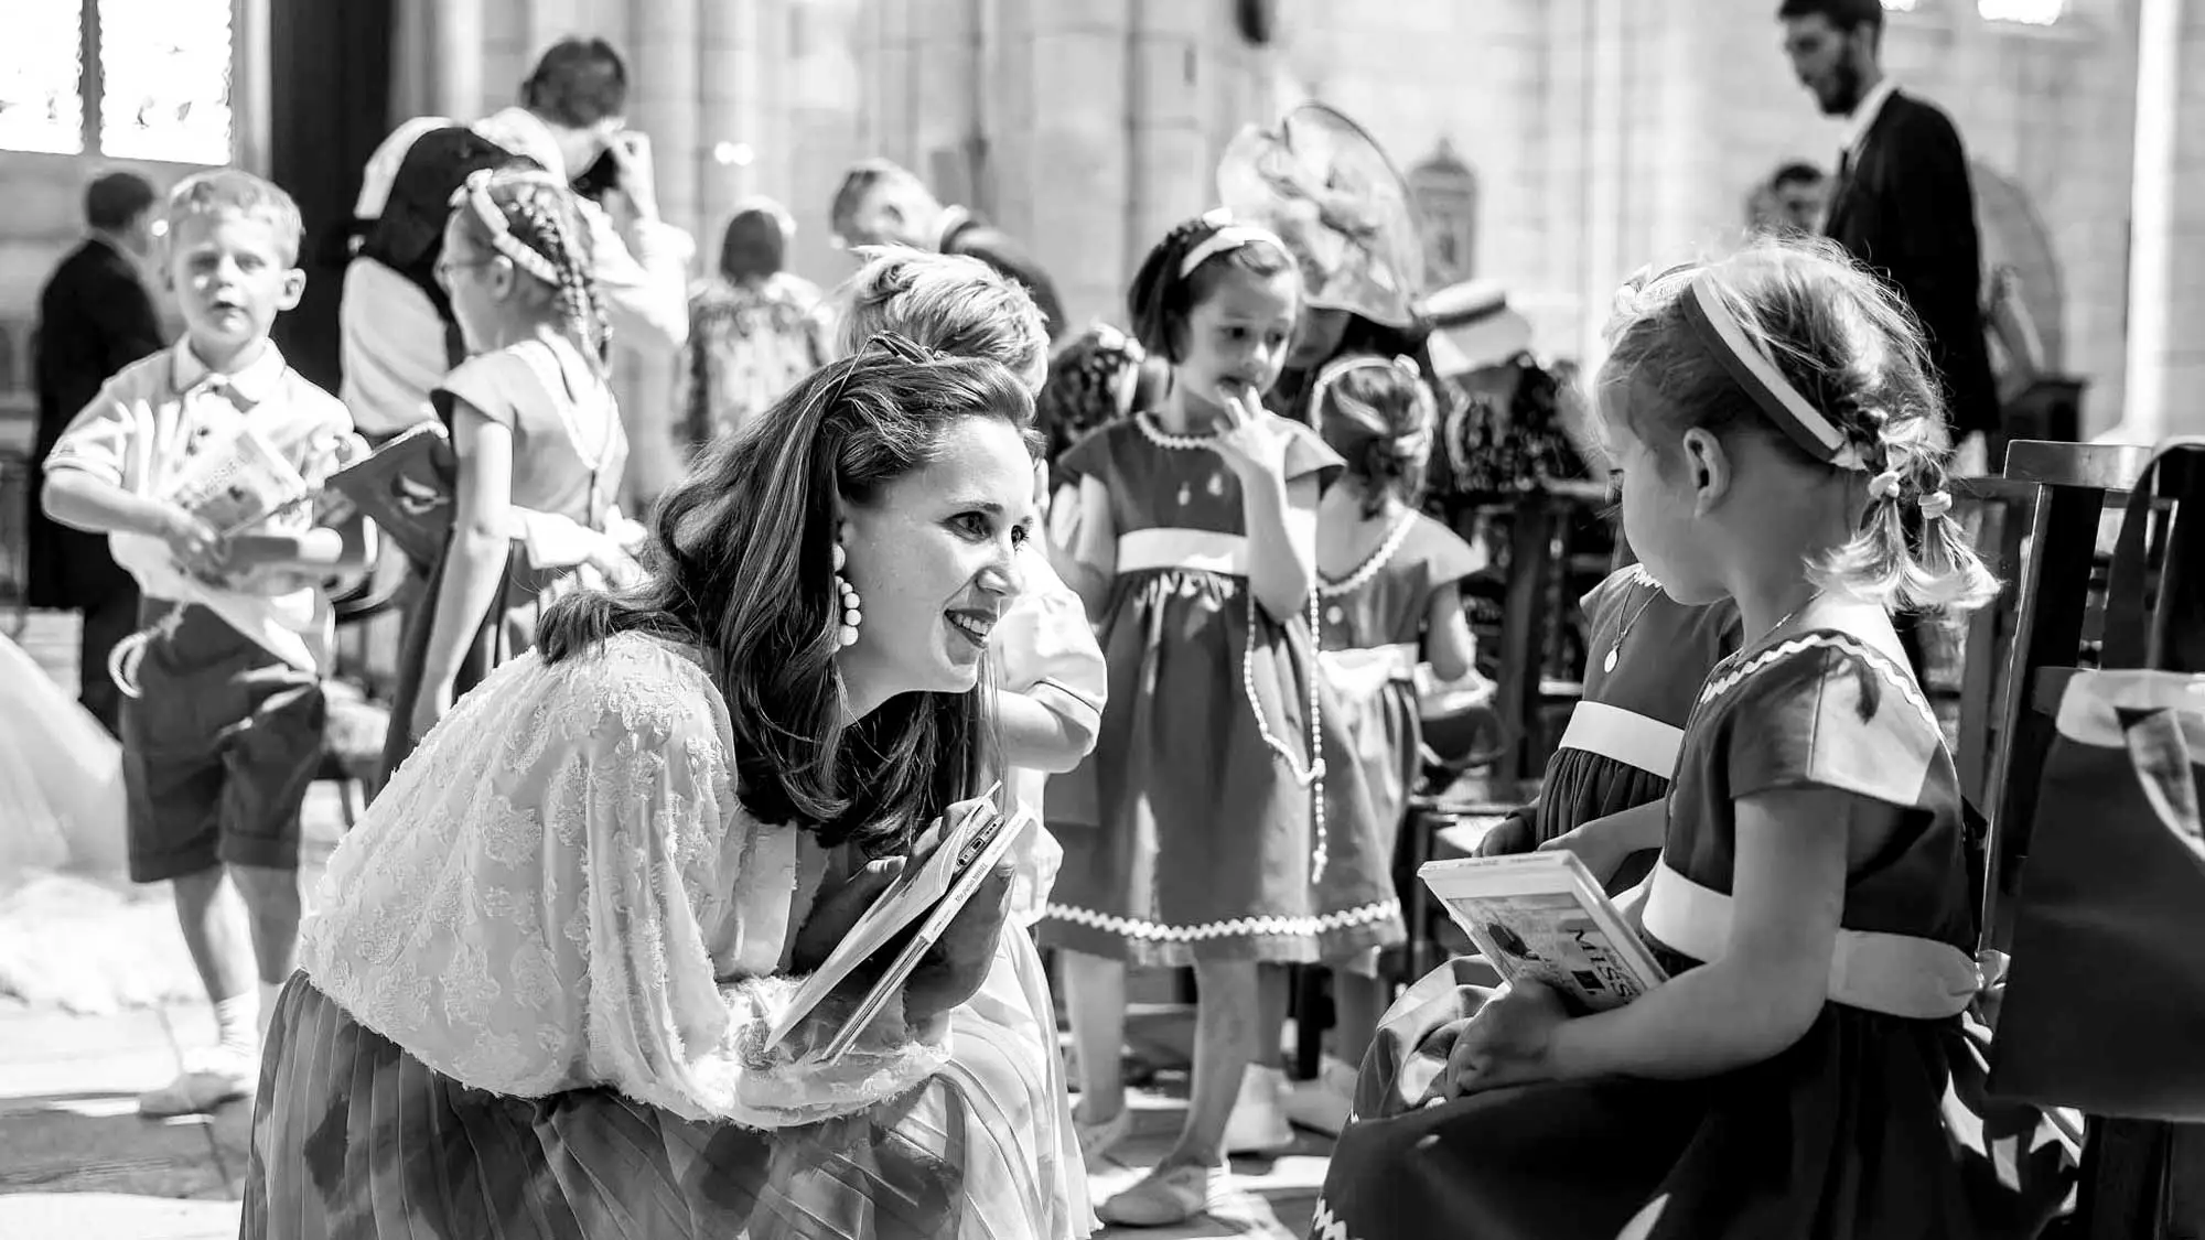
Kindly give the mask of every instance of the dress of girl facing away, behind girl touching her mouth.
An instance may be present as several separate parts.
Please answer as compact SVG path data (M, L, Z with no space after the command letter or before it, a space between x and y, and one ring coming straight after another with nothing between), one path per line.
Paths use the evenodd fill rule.
M1352 574L1321 580L1319 616L1325 697L1325 869L1316 913L1330 936L1376 964L1365 949L1407 938L1394 891L1394 845L1422 768L1416 664L1422 660L1431 596L1480 571L1484 556L1438 521L1405 510Z

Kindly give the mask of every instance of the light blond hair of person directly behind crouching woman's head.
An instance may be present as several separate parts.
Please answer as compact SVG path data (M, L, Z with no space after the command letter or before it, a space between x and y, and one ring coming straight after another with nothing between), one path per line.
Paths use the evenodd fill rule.
M1039 393L1050 377L1050 327L1034 298L979 258L864 245L864 267L836 289L842 355L893 331L955 357L986 357Z

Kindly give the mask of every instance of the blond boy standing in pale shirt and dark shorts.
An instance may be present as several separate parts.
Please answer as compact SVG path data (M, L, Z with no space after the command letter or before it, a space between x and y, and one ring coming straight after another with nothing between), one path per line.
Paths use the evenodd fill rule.
M289 980L298 944L300 808L320 766L320 677L335 644L322 582L370 556L357 516L326 525L311 501L225 536L168 499L201 455L245 432L276 448L309 494L364 452L344 406L269 342L306 285L300 234L291 196L249 172L176 185L168 282L185 338L108 380L46 457L46 514L108 534L143 594L143 629L112 660L130 695L130 878L174 887L220 1035L139 1099L152 1116L254 1092L260 1008Z

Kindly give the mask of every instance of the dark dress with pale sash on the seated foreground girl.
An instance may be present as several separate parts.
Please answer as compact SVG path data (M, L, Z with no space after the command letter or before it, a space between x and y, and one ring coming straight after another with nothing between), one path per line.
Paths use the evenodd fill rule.
M1312 1236L1387 1240L1947 1240L1982 1189L1947 1127L1978 975L1960 792L1905 664L1837 631L1733 655L1700 691L1643 924L1671 973L1729 942L1733 803L1835 788L1894 805L1846 883L1830 1000L1762 1063L1696 1081L1546 1081L1416 1110L1431 1052L1365 1068ZM1874 964L1870 964L1874 962ZM1433 1028L1486 991L1433 975L1389 1013ZM1378 1070L1374 1070L1378 1068ZM1632 1227L1625 1231L1625 1227Z

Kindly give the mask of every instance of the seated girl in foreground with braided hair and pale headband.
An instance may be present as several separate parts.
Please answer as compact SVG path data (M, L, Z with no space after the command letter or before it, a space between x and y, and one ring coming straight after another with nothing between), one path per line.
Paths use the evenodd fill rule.
M1744 629L1663 803L1643 933L1671 973L1572 1015L1519 984L1352 1125L1319 1236L1976 1236L1940 1103L1976 940L1951 757L1887 609L1996 589L1949 516L1921 331L1828 245L1638 280L1599 382L1632 549Z

